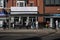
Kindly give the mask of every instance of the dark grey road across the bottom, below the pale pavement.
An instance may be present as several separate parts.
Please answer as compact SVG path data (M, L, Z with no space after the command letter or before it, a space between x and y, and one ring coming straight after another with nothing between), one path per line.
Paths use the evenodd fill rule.
M47 35L37 33L0 33L0 40L60 40L60 32Z

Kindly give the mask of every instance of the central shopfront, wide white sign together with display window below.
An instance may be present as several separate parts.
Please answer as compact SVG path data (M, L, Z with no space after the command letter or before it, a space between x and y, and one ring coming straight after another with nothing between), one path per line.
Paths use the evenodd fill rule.
M37 7L11 7L11 27L35 29L37 14Z

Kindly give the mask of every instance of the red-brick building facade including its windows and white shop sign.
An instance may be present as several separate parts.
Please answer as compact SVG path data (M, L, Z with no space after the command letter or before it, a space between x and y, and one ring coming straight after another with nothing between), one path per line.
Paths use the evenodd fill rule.
M17 21L24 20L22 24L25 21L28 23L28 20L31 20L36 26L36 21L38 23L49 21L50 27L53 27L55 26L55 21L58 20L60 25L60 0L1 0L0 12L3 9L7 12L8 16L3 15L0 19L3 17L6 20L7 18L9 20L9 27L15 23L13 21L16 18ZM10 23L11 20L12 24Z

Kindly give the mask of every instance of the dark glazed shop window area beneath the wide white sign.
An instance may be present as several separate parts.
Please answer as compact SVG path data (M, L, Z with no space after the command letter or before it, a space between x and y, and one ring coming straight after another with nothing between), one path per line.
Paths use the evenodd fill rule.
M11 27L12 28L36 28L37 16L12 16Z

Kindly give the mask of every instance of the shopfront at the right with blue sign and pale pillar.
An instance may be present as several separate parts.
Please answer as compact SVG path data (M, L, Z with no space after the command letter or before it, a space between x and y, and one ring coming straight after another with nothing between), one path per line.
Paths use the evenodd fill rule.
M58 21L58 28L60 28L60 14L51 14L50 16L45 16L45 21L49 21L49 27L56 28L56 20Z

